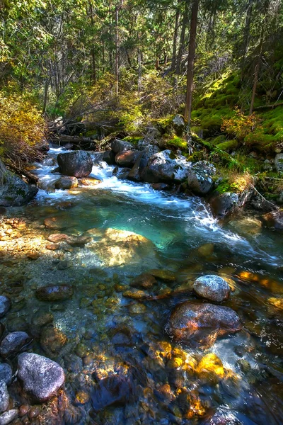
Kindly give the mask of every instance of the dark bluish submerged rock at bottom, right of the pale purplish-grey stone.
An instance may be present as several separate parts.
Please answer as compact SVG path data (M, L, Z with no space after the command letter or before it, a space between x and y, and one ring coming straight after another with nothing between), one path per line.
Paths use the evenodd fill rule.
M108 376L100 380L91 393L91 405L100 412L113 404L124 406L131 394L131 385L127 378L119 375Z

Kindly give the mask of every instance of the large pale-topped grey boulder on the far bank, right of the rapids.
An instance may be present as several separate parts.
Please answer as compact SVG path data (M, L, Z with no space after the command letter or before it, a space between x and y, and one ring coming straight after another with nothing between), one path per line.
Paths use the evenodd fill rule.
M166 149L152 155L142 171L142 178L148 183L180 183L187 179L192 163L183 155Z

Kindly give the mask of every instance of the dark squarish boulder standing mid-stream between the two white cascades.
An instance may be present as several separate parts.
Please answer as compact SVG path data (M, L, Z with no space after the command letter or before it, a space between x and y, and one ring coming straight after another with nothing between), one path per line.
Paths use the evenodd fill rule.
M91 155L84 151L59 154L57 161L60 173L65 176L86 177L91 174L91 170L93 169Z

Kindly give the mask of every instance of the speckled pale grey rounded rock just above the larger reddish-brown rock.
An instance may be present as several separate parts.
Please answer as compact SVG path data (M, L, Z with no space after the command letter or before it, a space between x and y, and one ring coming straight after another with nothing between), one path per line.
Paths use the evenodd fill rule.
M197 295L209 301L222 302L228 300L230 286L220 276L206 275L195 280L192 289Z

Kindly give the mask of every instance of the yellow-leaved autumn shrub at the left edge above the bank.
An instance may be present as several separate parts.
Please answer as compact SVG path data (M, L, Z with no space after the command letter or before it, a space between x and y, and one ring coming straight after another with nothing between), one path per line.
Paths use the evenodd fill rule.
M0 92L0 156L7 164L39 159L36 145L45 135L45 120L34 103L19 94Z

